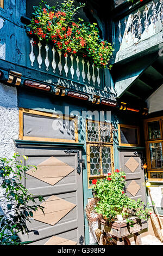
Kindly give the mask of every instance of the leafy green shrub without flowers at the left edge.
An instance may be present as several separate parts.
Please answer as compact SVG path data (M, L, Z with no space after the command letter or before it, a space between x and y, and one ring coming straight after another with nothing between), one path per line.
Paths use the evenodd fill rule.
M0 182L3 188L3 197L0 198L0 205L3 201L6 207L0 213L0 244L1 245L23 245L29 242L21 242L17 233L28 233L26 222L30 222L33 211L43 207L35 204L32 194L29 194L21 180L24 173L29 170L29 165L23 166L22 161L14 154L11 159L0 159ZM27 159L26 156L23 156ZM38 197L41 202L43 198Z

